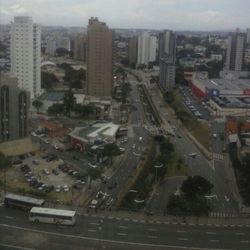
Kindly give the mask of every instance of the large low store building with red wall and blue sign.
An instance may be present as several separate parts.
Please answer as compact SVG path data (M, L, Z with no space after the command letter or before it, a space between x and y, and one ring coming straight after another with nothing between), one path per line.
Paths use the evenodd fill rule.
M223 71L221 78L216 79L208 79L206 72L196 72L191 87L198 98L208 101L218 116L250 115L249 72Z

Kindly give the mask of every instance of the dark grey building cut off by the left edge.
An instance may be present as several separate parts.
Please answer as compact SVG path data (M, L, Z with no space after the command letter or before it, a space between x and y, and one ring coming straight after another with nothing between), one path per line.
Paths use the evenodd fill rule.
M28 136L30 94L17 85L17 78L0 74L0 142Z

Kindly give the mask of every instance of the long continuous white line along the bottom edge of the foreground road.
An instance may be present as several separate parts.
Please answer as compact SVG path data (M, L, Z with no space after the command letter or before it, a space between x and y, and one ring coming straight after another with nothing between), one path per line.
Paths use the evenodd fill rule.
M34 233L42 233L46 235L53 235L53 236L58 236L58 237L67 237L67 238L74 238L74 239L82 239L82 240L92 240L99 242L99 238L95 237L88 237L88 236L80 236L80 235L73 235L73 234L63 234L63 233L56 233L56 232L48 232L48 231L43 231L43 230L38 230L38 229L32 229L32 228L25 228L25 227L19 227L19 226L13 226L13 225L7 225L7 224L2 224L0 223L1 227L6 227L6 228L12 228L12 229L18 229L22 231L27 231L27 232L34 232ZM126 245L131 245L131 246L145 246L145 247L158 247L162 249L166 248L172 248L172 249L186 249L186 250L214 250L214 248L204 248L204 247L185 247L185 246L178 246L178 245L167 245L167 244L150 244L150 243L143 243L143 242L129 242L129 241L121 241L121 240L108 240L108 239L102 239L102 242L107 242L107 243L116 243L116 244L126 244ZM33 250L33 249L32 249ZM217 249L219 250L219 249ZM222 249L221 249L222 250ZM228 248L223 248L223 250L231 250Z

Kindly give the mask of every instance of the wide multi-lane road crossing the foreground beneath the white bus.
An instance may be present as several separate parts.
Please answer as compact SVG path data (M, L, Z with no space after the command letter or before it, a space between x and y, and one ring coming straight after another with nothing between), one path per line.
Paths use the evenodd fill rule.
M73 227L33 224L0 208L0 249L249 249L248 226L78 215ZM11 247L12 246L12 247ZM15 246L15 247L14 247Z

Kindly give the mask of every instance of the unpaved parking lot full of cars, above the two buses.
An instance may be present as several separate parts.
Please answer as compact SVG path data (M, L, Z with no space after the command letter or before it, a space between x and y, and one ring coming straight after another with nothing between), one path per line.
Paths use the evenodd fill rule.
M84 188L87 182L86 175L53 154L36 152L21 155L14 159L13 166L15 177L37 192L66 193Z

